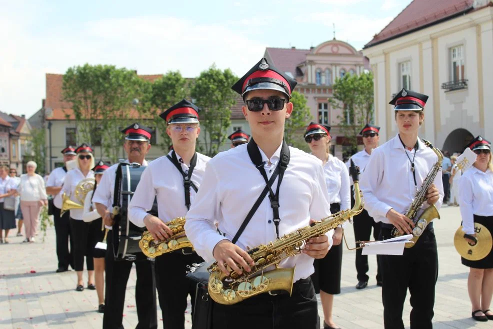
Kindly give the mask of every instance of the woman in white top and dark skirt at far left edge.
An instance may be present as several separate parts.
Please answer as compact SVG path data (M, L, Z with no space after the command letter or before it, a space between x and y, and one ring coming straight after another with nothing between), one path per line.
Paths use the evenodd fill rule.
M8 177L8 167L0 165L0 243L8 243L8 231L15 228L15 212L3 208L4 198L15 194L15 181ZM5 230L5 237L3 237Z

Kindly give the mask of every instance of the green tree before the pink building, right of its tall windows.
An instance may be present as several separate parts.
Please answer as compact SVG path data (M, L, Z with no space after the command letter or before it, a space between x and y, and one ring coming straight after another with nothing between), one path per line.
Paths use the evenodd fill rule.
M336 79L329 99L333 109L342 109L338 116L340 128L350 145L350 154L357 151L357 135L373 117L373 74L346 74Z

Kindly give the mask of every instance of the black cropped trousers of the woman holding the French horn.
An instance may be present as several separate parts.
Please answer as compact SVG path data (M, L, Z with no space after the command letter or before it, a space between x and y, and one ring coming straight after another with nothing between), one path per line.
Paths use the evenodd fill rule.
M99 228L100 229L100 228ZM76 271L84 269L88 271L94 270L94 240L98 237L98 229L95 225L90 225L83 220L70 218L70 230L73 239L73 263Z

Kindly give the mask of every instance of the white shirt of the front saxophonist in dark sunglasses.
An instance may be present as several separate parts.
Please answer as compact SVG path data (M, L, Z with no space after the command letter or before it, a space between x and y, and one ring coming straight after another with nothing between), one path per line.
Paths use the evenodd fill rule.
M205 261L214 260L212 250L224 239L217 234L214 220L217 220L219 230L225 233L225 238L231 240L265 188L265 181L251 162L246 146L243 144L221 152L207 163L202 185L186 214L186 236ZM260 150L269 178L279 161L281 146L270 159ZM310 218L320 220L330 215L322 162L296 148L289 147L289 151L290 161L279 191L279 236L307 226ZM278 177L272 184L274 193L277 180ZM265 197L236 245L246 250L246 247L274 241L276 233L272 217L269 199ZM327 233L330 245L332 234L333 230ZM296 281L313 273L313 258L299 254L282 260L279 266L296 266Z

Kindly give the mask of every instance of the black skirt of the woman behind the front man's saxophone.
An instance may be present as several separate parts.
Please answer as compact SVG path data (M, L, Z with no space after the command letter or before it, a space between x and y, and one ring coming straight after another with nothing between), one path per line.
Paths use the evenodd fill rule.
M339 203L330 204L330 213L334 214L339 210ZM315 272L311 274L311 280L316 293L320 293L320 290L332 295L340 293L341 266L342 243L332 245L325 257L313 261Z

